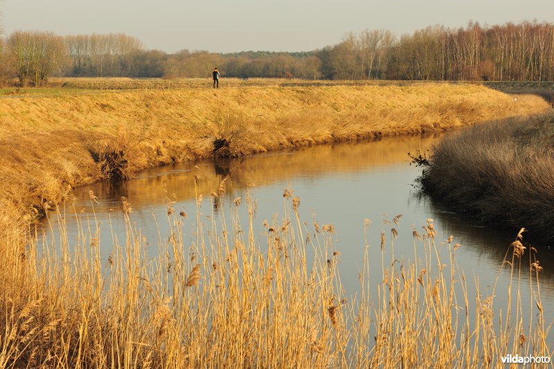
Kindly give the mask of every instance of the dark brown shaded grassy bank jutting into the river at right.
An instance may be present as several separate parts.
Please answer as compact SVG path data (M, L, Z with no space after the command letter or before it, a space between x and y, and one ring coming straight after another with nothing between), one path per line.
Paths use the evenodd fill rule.
M553 147L552 112L476 126L434 149L422 184L462 213L552 241Z

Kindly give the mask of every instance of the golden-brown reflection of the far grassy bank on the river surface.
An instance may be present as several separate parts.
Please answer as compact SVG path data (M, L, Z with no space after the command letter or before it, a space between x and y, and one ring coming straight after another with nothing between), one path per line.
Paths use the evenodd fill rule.
M248 186L269 186L276 181L295 178L313 179L322 175L358 173L379 170L387 165L409 163L407 152L428 150L440 134L401 136L378 141L335 143L271 152L240 159L197 161L146 170L132 181L104 181L75 190L82 200L80 209L90 210L89 190L100 199L96 212L119 207L127 197L134 209L161 203L164 196L174 201L209 195L226 179L226 189L235 194ZM193 174L199 178L195 186ZM232 195L229 195L232 197ZM260 199L262 200L262 199ZM219 205L214 204L215 208Z

